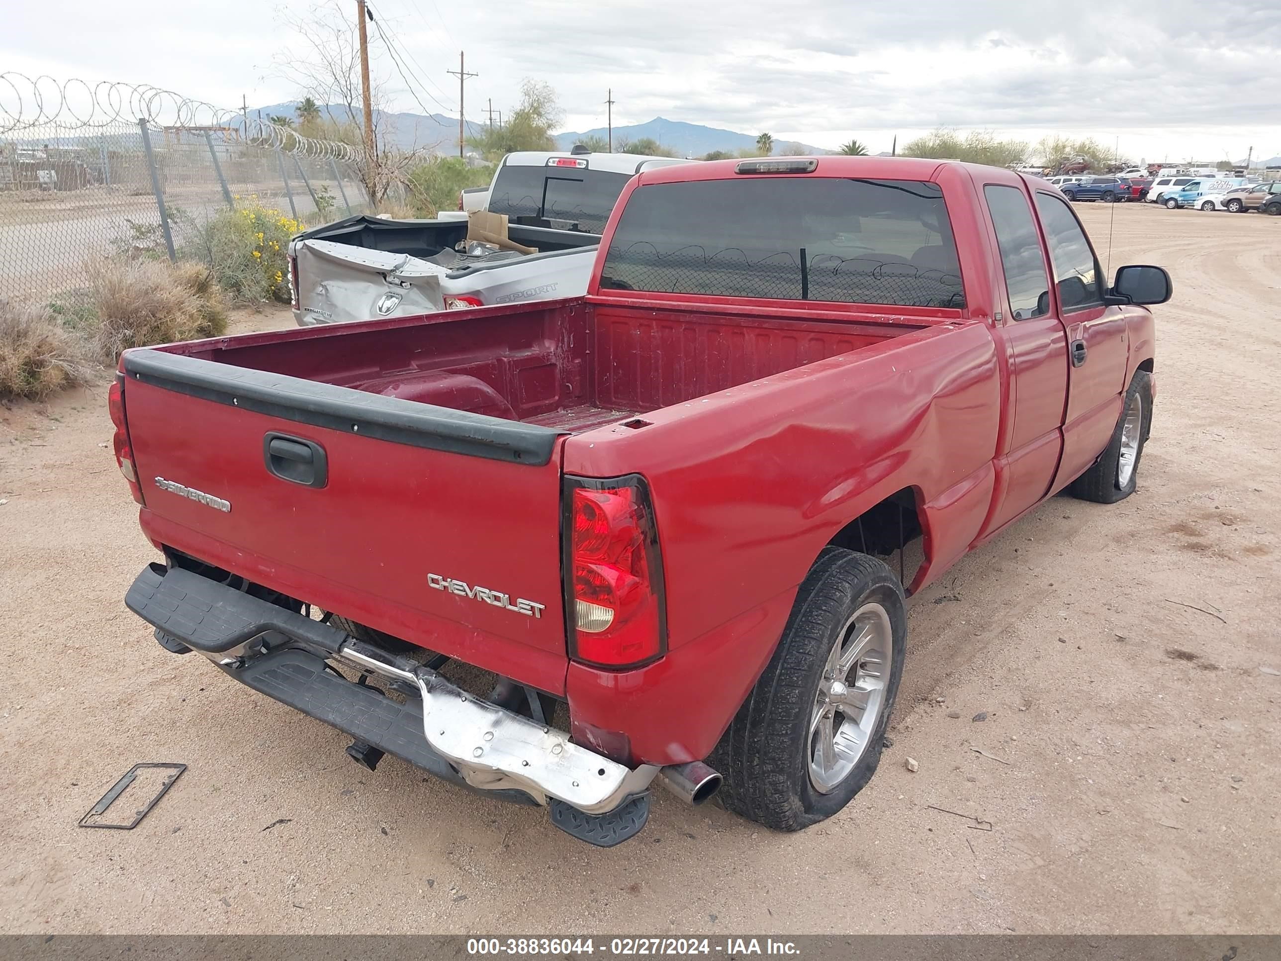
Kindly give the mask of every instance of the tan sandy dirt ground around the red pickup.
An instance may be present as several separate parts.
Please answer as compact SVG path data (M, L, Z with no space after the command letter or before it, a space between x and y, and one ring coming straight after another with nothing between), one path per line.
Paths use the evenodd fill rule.
M1056 497L911 602L893 746L801 834L660 792L601 851L361 770L126 611L155 554L105 386L0 409L0 930L1278 930L1281 219L1079 209L1175 278L1139 491ZM78 828L136 761L190 769L136 830Z

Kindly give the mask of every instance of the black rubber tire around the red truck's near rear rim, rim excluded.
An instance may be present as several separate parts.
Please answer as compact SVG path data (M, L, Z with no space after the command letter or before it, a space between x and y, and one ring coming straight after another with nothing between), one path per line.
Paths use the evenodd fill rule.
M810 779L812 710L834 643L853 612L869 602L884 609L890 625L883 707L852 770L821 793ZM890 569L866 554L824 548L797 592L774 656L708 759L725 778L720 791L725 809L766 828L801 830L848 805L880 762L906 638L903 588Z

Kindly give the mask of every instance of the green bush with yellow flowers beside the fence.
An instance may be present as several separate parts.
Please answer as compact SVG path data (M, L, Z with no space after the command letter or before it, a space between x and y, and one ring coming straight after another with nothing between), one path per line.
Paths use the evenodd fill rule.
M215 283L237 301L288 302L290 237L304 229L300 220L252 199L214 214L181 255L205 264Z

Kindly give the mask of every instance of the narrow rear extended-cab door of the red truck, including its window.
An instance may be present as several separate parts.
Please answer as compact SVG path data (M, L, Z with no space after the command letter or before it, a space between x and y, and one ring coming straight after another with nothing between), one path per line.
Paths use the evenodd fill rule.
M991 177L1000 182L984 185L981 193L1006 281L993 334L1007 357L1009 393L991 510L980 537L997 532L1049 492L1063 450L1067 398L1067 329L1050 296L1049 264L1031 197L1017 178L995 172Z

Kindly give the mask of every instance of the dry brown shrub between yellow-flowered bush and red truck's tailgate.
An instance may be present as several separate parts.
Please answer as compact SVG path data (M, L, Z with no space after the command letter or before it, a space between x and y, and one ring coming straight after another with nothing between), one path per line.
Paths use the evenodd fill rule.
M214 337L227 331L227 302L210 270L164 260L99 260L88 268L94 352Z

